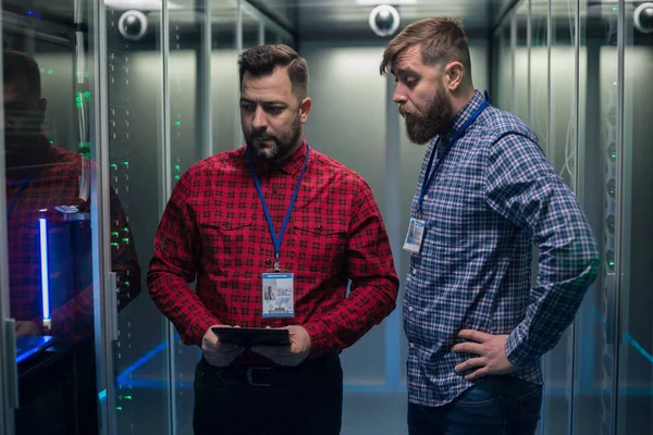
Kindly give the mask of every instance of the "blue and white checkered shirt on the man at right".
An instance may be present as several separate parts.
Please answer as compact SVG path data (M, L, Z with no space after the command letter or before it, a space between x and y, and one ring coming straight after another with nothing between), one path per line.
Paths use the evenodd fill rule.
M484 100L477 91L451 130L429 145L414 217L436 144L442 149ZM476 357L451 351L460 330L509 335L506 355L519 368L513 375L541 383L540 359L574 320L599 265L576 196L535 134L490 105L452 147L426 197L424 240L410 256L403 306L408 400L438 407L473 385L464 377L469 372L454 370ZM531 288L533 244L540 257Z

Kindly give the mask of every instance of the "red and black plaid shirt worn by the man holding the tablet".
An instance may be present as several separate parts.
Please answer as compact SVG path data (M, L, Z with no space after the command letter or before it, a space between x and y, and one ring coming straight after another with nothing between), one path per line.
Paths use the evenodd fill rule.
M252 157L279 234L306 142L276 165ZM310 150L283 238L282 271L295 274L295 318L262 318L261 274L274 246L245 147L206 159L177 182L155 239L148 286L185 344L211 325L301 325L311 357L353 345L395 308L398 278L381 213L367 183ZM196 291L188 283L197 275ZM348 279L350 294L346 296ZM268 362L251 352L242 363Z

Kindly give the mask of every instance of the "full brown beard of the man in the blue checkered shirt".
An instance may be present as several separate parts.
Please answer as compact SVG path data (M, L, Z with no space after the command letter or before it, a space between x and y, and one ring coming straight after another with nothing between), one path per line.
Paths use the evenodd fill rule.
M452 104L444 90L438 90L429 104L426 115L399 112L406 117L406 134L411 142L424 145L433 137L443 135L448 129L453 115Z

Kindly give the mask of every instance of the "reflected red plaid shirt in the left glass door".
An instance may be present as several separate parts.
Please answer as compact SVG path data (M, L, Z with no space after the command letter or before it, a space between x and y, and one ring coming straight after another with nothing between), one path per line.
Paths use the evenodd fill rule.
M11 316L42 327L39 210L47 209L50 335L81 338L94 333L91 169L88 159L50 145L46 163L29 175L7 170ZM81 198L83 190L88 194L87 200ZM56 209L60 206L75 206L77 216L86 219L72 221L72 214ZM140 291L140 269L124 211L113 190L110 207L111 232L118 234L112 238L115 241L111 253L121 309Z

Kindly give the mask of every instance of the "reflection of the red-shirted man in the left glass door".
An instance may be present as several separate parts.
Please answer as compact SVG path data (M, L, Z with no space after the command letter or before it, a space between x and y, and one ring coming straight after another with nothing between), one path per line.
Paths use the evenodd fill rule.
M52 144L41 132L47 100L40 72L26 53L3 52L4 147L11 316L16 336L94 335L90 177L93 162ZM112 247L119 309L140 291L140 268L125 213L111 190ZM39 219L47 221L50 319L44 320Z

